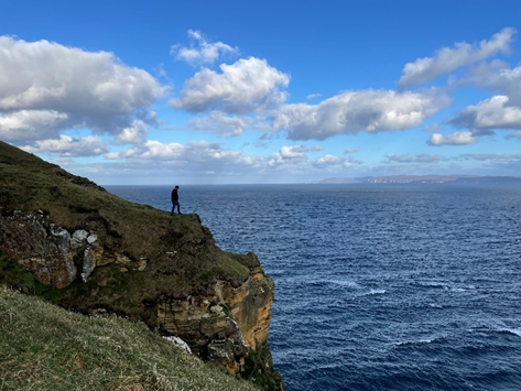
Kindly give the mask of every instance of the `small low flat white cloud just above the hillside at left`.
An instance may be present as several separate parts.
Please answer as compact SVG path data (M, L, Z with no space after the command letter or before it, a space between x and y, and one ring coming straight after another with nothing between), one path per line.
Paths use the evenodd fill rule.
M25 145L22 150L30 153L46 152L62 158L97 156L108 152L107 145L98 137L73 139L65 134L59 139L39 140L35 146Z

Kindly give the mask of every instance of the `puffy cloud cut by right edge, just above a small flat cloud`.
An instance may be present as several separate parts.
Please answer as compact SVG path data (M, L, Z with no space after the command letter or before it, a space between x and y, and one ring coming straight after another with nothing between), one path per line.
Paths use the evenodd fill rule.
M487 134L492 129L521 129L521 108L509 104L509 97L495 96L465 108L448 122L474 134Z

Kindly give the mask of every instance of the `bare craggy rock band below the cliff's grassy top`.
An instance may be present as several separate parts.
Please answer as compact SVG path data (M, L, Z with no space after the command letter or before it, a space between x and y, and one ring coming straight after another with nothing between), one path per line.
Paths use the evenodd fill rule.
M175 218L200 224L196 215ZM162 273L164 280L164 274L171 273L170 282L175 285L180 273L164 273L165 259L175 264L183 253L189 253L192 262L208 262L198 256L205 247L213 246L211 233L204 227L198 231L189 240L177 235L175 245L163 251L162 265L149 268L154 259L131 257L106 246L105 241L113 242L107 240L110 235L106 229L93 229L91 225L67 229L51 222L42 210L22 213L0 208L0 251L7 258L3 262L15 262L39 284L54 290L52 296L57 304L91 315L115 312L140 318L165 336L181 338L204 360L253 379L265 389L282 390L282 379L273 369L268 343L274 284L253 253L236 254L238 264L247 268L243 281L217 275L204 289L192 290L186 296L169 290L167 285L154 286L154 292L143 291L138 303L124 305L118 305L121 295L108 294L118 285L113 283L118 279L128 283L128 289L142 289L133 284L143 281L138 274L153 279ZM132 304L138 309L126 311Z

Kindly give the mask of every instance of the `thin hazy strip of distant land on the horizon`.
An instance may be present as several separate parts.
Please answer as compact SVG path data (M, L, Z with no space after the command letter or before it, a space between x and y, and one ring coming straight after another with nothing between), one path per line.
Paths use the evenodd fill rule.
M521 176L480 175L390 175L366 177L329 177L305 184L356 184L356 183L521 183Z

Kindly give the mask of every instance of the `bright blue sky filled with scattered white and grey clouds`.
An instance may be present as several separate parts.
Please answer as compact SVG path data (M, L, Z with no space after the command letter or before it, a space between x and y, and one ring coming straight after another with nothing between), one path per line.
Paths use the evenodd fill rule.
M0 140L100 185L521 176L521 1L0 0Z

